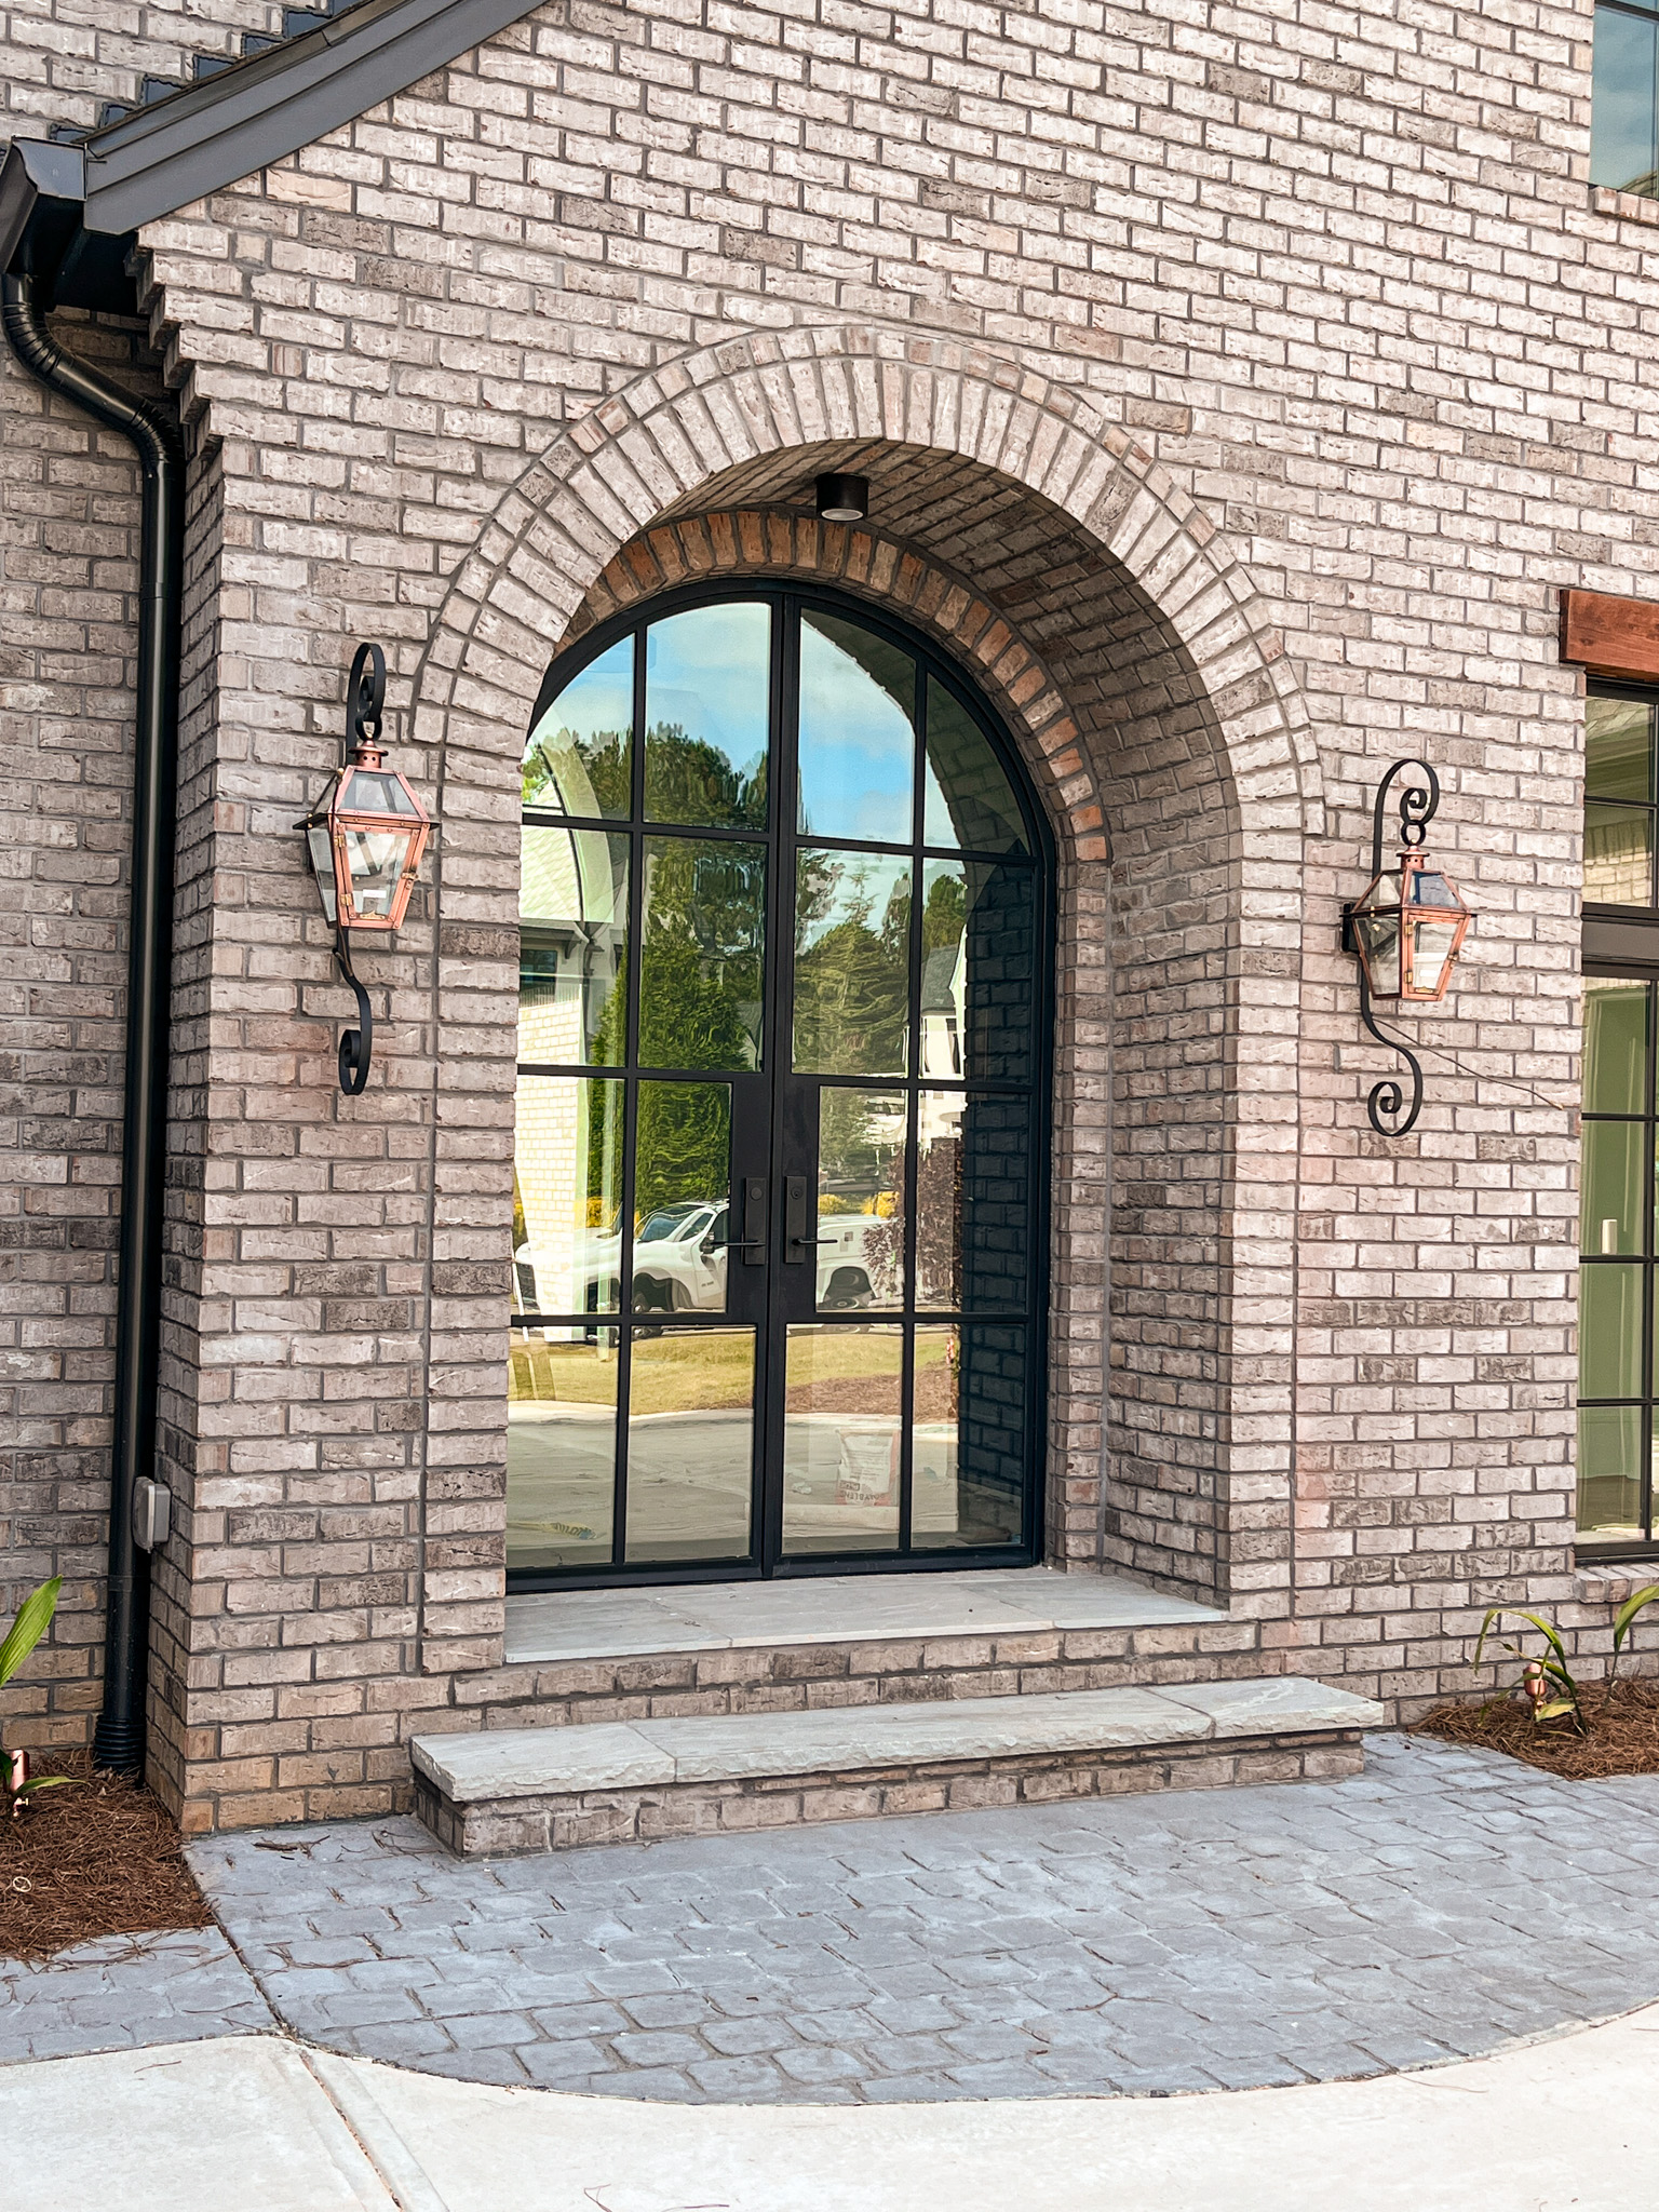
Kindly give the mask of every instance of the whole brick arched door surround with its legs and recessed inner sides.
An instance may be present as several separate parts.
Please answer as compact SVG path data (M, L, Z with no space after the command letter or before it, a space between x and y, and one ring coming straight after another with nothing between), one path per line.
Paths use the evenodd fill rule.
M1126 599L1141 611L1119 655L1130 677L1093 684L1075 653L1077 666L1060 668L1062 655L1040 650L978 575L914 540L781 511L770 484L772 504L719 507L732 487L761 489L768 469L799 478L814 456L834 465L863 447L902 447L914 467L947 456L1053 513L1117 591L1117 628ZM515 854L507 854L535 692L555 653L615 606L697 573L779 568L834 577L933 630L1004 712L1055 823L1062 960L1071 947L1075 989L1066 995L1062 975L1051 1555L1121 1559L1194 1595L1241 1599L1254 1584L1263 1593L1254 1610L1279 1610L1283 1599L1267 1593L1287 1575L1265 1531L1283 1526L1290 1495L1301 872L1305 838L1321 827L1301 695L1265 606L1214 526L1086 396L964 345L872 330L730 341L606 400L502 500L434 626L414 684L414 737L431 748L445 821L434 1290L453 1334L434 1327L427 1535L447 1522L482 1533L476 1478L504 1464L498 1283L511 1208L515 960ZM1104 588L1095 599L1077 591L1091 619ZM1044 619L1053 613L1051 595ZM1099 619L1104 637L1113 624ZM1099 653L1110 659L1106 644ZM1199 785L1210 810L1201 902L1214 927L1179 949L1157 883L1168 841L1197 834L1188 803L1199 805ZM1108 827L1128 854L1115 869ZM1150 978L1135 1004L1157 989L1186 993L1183 1015L1159 1015L1161 1044L1150 1053L1099 995L1110 991L1113 905L1126 945L1119 964L1141 962ZM1221 905L1225 916L1214 914ZM1146 953L1159 929L1168 942ZM1091 975L1095 1000L1084 991ZM495 1026L480 1024L482 1006L500 1009ZM1188 1135L1181 1020L1194 1062L1225 1053L1228 1064L1225 1128L1210 1128L1190 1183L1179 1181L1179 1161L1170 1170ZM1128 1197L1113 1188L1115 1146ZM1192 1206L1199 1183L1206 1197ZM487 1188L502 1201L498 1230L471 1225ZM1186 1250L1183 1203L1194 1223ZM1110 1292L1119 1316L1130 1312L1130 1325L1113 1327L1113 1356L1119 1338L1128 1347L1113 1407ZM1102 1482L1119 1396L1128 1422L1117 1420ZM469 1500L453 1520L449 1471L456 1506ZM1237 1537L1248 1526L1261 1533L1241 1571ZM1287 1535L1283 1548L1287 1557Z

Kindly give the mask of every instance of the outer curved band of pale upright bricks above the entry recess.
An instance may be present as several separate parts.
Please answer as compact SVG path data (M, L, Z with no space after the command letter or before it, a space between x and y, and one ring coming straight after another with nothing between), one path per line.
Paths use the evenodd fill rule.
M1217 714L1250 863L1301 869L1318 754L1283 637L1217 526L1093 403L958 341L865 325L721 341L637 378L555 440L460 566L416 675L416 737L502 754L593 586L677 500L745 460L836 440L949 449L1051 500L1124 564Z

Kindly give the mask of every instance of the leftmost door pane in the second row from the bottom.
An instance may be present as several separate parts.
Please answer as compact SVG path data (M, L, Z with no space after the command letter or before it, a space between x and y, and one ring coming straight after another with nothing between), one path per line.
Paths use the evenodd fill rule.
M615 1314L622 1305L622 1084L520 1075L513 1124L513 1305Z

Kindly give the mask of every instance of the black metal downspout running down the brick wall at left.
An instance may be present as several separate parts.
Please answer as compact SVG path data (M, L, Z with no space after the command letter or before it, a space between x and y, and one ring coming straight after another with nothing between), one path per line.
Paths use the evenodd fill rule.
M184 608L184 442L159 407L75 361L46 334L35 276L0 279L0 321L29 374L137 447L144 465L137 743L133 754L133 918L126 980L126 1133L122 1144L115 1438L111 1464L104 1710L93 1756L144 1772L148 1553L133 1540L133 1491L155 1460L166 1181L168 991L173 973L173 814Z

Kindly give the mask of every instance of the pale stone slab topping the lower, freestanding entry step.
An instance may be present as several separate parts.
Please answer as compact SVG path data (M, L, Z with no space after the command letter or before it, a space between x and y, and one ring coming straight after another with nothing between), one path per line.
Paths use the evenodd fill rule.
M1380 1705L1349 1690L1272 1674L1168 1690L1062 1690L723 1719L498 1728L476 1736L416 1736L409 1754L416 1774L449 1805L502 1805L593 1790L1358 1732L1380 1728L1383 1719Z

